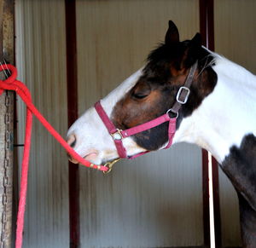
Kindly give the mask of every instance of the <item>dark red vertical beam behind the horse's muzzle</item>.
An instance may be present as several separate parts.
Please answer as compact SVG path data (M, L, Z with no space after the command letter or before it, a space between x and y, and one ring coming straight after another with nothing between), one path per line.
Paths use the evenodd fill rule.
M76 1L65 0L67 45L68 127L78 118L78 65L76 40ZM68 164L70 248L79 247L79 165Z

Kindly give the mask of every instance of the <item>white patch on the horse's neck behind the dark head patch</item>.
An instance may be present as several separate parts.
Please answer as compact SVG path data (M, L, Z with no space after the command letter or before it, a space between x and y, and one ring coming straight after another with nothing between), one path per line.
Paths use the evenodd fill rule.
M230 147L240 147L246 134L256 136L256 77L222 57L215 62L215 89L190 117L183 119L174 141L206 148L222 163Z

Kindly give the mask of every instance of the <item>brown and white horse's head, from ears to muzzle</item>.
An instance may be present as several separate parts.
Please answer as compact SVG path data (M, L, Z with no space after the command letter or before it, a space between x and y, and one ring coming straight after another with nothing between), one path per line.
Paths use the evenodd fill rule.
M117 130L137 127L168 112L170 118L176 118L172 143L186 141L185 137L194 129L191 121L193 113L217 82L217 75L211 67L213 61L211 53L201 46L199 33L191 40L180 42L177 26L170 20L165 42L148 55L142 69L102 99L100 107ZM193 66L193 75L189 75ZM173 110L177 95L188 77L191 78L191 85L188 94L185 94L186 101L181 103L178 111ZM168 121L162 122L132 136L120 137L127 158L166 147L169 124ZM114 138L109 135L108 126L96 107L84 112L71 126L67 142L79 155L94 164L120 157Z

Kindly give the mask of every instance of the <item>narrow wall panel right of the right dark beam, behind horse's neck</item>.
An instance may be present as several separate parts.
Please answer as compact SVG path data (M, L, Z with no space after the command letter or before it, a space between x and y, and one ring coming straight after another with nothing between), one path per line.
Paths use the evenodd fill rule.
M215 0L214 3L216 52L256 73L256 2ZM238 199L234 187L221 170L219 196L223 245L241 245Z

